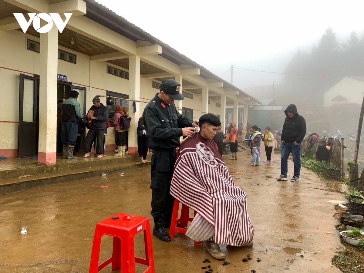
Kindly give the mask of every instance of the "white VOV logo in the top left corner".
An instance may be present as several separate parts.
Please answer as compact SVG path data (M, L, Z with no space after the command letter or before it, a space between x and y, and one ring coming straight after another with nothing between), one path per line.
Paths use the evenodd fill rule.
M59 32L62 33L63 29L66 27L68 20L70 20L72 12L64 12L64 16L66 16L66 20L63 21L61 16L56 12L50 12L48 13L36 13L36 12L28 12L29 15L29 21L25 19L24 14L20 12L13 12L13 15L15 16L16 20L18 21L21 29L23 32L27 32L30 24L33 21L33 27L34 29L39 33L47 33L51 30L53 27L53 22L56 24L56 27L58 28ZM44 25L43 27L40 27L40 19L43 19L48 24Z

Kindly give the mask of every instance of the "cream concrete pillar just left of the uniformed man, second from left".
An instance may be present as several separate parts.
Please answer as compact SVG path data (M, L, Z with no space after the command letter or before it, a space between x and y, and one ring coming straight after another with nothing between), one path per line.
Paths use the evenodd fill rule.
M140 100L140 56L129 56L129 99ZM140 103L136 103L137 112L133 111L133 102L129 102L129 116L131 117L131 123L129 128L129 155L138 154L138 136L137 128L138 121L141 116Z

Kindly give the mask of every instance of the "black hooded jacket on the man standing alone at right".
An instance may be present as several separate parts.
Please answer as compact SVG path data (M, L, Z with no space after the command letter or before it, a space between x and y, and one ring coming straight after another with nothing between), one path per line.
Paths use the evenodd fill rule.
M295 114L293 118L288 116L288 111ZM303 116L298 115L297 107L294 104L290 104L284 113L287 117L284 120L281 140L301 143L306 135L306 120Z

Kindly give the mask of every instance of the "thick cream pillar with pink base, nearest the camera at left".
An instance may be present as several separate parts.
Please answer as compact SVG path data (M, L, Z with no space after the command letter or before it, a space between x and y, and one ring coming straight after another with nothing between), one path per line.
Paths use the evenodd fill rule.
M58 29L40 33L38 162L56 164Z

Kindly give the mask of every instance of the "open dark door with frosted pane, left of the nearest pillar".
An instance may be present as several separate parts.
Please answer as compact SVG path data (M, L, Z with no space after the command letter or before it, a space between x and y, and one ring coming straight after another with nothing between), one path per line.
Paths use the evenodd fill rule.
M18 157L36 154L37 78L20 74Z

